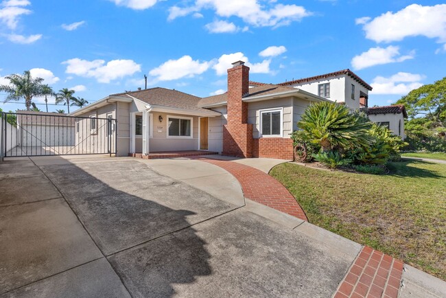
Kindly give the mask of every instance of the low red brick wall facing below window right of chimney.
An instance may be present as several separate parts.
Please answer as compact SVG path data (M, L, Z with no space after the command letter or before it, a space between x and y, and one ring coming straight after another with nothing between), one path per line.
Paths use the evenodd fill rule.
M253 157L293 160L293 140L281 137L253 139Z

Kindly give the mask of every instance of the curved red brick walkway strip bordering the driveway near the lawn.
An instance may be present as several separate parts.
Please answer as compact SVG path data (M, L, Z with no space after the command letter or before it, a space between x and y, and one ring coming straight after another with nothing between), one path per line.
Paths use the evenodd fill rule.
M199 158L230 172L242 185L245 198L308 221L301 206L288 190L272 176L256 168L233 161Z

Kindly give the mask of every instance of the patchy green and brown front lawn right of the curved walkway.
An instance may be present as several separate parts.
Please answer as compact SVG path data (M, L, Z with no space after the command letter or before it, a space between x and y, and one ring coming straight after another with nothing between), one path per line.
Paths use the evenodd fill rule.
M309 222L446 280L446 165L405 161L389 169L375 176L283 163L270 174Z

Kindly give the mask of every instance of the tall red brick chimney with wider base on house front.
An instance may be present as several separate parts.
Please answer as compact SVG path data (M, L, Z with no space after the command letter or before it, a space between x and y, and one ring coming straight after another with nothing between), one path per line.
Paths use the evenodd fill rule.
M223 155L253 157L253 124L248 124L249 67L243 61L228 69L228 124L223 128Z

